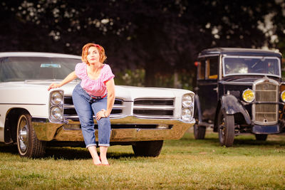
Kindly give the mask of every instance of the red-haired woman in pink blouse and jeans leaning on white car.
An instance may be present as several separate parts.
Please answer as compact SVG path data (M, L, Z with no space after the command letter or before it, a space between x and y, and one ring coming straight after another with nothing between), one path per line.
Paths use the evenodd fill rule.
M75 71L70 73L61 83L52 83L48 90L59 88L76 78L81 78L81 83L73 90L73 104L76 108L81 130L95 165L109 165L106 154L110 147L110 112L115 102L115 83L110 66L103 64L105 50L95 43L87 43L82 48L83 63L76 65ZM95 143L95 130L93 113L98 123L98 156Z

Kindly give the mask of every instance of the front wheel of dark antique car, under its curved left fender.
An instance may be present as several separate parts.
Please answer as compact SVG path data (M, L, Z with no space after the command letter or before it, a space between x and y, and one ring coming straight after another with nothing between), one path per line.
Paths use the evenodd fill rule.
M221 146L232 147L234 144L234 115L227 115L223 110L220 110L218 127Z

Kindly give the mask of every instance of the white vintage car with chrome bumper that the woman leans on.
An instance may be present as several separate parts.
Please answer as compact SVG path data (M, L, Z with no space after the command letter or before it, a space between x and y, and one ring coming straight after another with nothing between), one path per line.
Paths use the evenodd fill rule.
M80 80L47 90L80 62L58 53L0 53L0 142L17 144L23 157L42 157L46 146L84 146L71 97ZM136 155L158 156L163 140L180 139L195 123L189 90L117 85L115 92L110 143L132 145Z

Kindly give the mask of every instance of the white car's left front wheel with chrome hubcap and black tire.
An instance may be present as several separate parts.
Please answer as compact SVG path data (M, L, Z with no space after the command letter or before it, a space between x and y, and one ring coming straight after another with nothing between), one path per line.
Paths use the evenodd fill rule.
M36 137L31 125L31 115L26 112L19 117L16 137L21 157L42 157L45 154L46 144Z

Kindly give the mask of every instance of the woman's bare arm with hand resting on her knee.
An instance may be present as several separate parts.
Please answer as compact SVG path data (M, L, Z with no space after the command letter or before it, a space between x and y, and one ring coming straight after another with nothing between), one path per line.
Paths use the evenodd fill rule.
M101 110L96 114L96 120L100 120L101 117L109 117L113 105L115 102L115 82L114 79L110 79L106 82L106 87L108 91L108 97L107 97L107 110Z

